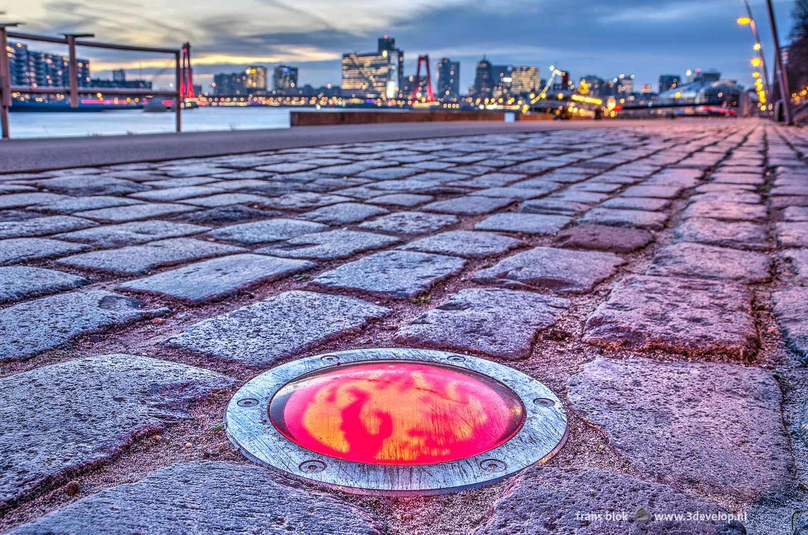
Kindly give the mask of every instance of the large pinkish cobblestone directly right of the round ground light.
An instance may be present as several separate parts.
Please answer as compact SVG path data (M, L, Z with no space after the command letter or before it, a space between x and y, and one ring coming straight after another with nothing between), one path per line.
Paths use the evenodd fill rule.
M772 374L751 366L597 357L571 407L659 483L751 501L784 490L793 456Z

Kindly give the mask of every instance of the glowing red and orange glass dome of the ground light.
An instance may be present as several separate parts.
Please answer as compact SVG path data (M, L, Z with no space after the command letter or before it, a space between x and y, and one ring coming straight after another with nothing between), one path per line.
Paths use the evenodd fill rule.
M290 441L347 461L456 461L508 441L524 420L519 397L485 375L431 362L331 366L289 382L271 400Z

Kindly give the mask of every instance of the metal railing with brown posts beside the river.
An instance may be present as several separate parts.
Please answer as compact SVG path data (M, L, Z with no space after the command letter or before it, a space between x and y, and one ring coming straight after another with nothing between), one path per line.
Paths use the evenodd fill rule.
M9 109L12 106L11 95L15 93L24 94L61 94L70 95L70 107L78 108L79 94L112 94L121 96L166 96L175 98L176 129L182 131L182 98L180 93L181 66L180 49L173 48L153 48L135 47L128 44L98 43L82 38L94 37L93 34L64 34L64 37L38 36L36 34L23 33L19 31L8 31L10 27L16 27L19 23L0 23L0 129L2 129L2 139L8 139L9 132ZM11 61L8 52L8 40L19 39L26 41L39 41L42 43L66 44L69 51L69 87L46 86L12 86L11 85ZM78 86L78 65L76 60L76 47L105 48L107 50L126 50L129 52L152 52L159 54L173 54L175 56L176 77L175 90L151 90L140 88L109 88L109 87L79 87Z

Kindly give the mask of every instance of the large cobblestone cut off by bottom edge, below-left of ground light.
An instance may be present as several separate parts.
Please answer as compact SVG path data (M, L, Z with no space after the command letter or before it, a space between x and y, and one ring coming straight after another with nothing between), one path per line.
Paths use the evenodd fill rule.
M191 461L90 494L11 533L381 535L387 529L363 508L300 483L281 482L263 466Z

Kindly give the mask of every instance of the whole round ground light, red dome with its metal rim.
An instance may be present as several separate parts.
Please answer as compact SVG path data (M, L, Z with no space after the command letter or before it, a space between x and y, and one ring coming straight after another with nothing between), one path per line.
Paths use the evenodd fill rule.
M314 483L423 495L494 483L566 441L561 401L482 358L427 349L306 357L247 382L225 413L246 457Z

